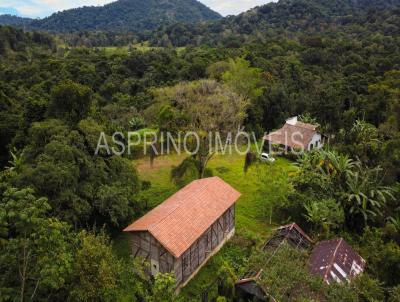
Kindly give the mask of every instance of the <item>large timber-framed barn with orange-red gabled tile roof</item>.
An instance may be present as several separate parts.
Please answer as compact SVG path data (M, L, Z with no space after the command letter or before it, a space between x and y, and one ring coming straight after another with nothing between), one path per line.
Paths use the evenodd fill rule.
M219 177L193 181L124 229L133 256L150 262L153 275L174 272L185 286L234 235L239 197Z

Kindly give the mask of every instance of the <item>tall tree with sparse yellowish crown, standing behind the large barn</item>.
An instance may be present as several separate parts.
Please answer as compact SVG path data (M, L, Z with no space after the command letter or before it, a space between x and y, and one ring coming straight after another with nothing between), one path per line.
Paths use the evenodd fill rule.
M212 145L215 135L219 134L225 140L229 133L236 133L244 121L248 104L246 98L214 80L163 88L157 92L156 99L158 103L172 106L171 110L185 117L179 120L182 122L180 130L196 133L191 151L198 161L200 178L204 177L207 164L215 153L216 146Z

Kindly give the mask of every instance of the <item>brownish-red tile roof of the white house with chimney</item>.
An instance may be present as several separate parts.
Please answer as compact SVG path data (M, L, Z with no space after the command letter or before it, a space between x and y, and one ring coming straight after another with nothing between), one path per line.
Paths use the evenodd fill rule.
M314 125L302 122L296 122L295 125L286 123L281 129L266 135L264 139L273 144L307 149L308 144L316 133L316 126Z

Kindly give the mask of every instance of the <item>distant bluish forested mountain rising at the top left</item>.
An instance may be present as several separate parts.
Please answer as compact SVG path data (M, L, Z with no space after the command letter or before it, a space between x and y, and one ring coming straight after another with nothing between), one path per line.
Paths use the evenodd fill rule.
M221 16L197 0L119 0L104 6L85 6L27 22L0 16L0 24L26 25L53 32L141 32L176 22L196 23Z

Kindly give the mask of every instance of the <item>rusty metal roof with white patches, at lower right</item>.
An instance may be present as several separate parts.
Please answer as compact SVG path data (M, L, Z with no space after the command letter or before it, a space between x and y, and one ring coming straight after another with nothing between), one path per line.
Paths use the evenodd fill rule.
M350 281L364 268L365 260L342 238L320 242L309 262L310 272L320 275L328 284Z

